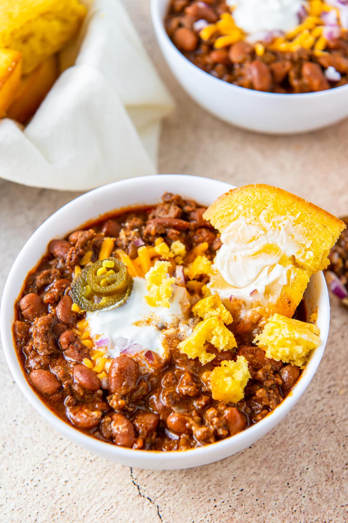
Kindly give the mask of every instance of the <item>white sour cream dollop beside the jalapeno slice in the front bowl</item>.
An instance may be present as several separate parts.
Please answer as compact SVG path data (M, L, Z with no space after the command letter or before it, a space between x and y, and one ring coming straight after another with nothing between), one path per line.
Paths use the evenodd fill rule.
M169 308L151 307L144 299L146 294L145 279L136 277L123 305L87 313L94 347L105 350L105 356L115 358L122 351L133 355L151 350L163 360L173 336L180 339L190 334L189 302L184 287L173 285Z

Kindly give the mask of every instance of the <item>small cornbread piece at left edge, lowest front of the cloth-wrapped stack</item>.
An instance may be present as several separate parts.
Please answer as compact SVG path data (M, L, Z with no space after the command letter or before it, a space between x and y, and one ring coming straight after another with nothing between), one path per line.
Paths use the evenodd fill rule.
M21 75L21 53L0 49L0 118L16 97Z

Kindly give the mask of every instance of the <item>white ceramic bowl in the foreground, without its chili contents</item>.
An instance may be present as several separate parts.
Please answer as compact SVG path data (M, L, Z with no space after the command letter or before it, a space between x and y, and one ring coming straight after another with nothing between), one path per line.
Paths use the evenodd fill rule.
M125 206L151 204L161 201L165 191L177 192L208 206L233 186L222 181L196 176L160 175L116 181L71 201L55 212L29 238L22 248L8 276L0 311L0 331L8 366L20 390L43 416L64 436L77 445L106 459L144 469L185 469L217 461L248 447L265 435L287 414L304 393L322 357L329 329L329 298L323 275L311 279L306 291L308 314L318 308L318 327L321 344L313 352L301 378L293 391L273 412L256 425L214 444L196 449L174 452L132 450L107 444L91 438L72 425L65 423L50 411L29 385L17 359L11 327L14 322L14 303L21 291L29 270L45 254L47 244L54 237L64 237L70 231L105 212Z

